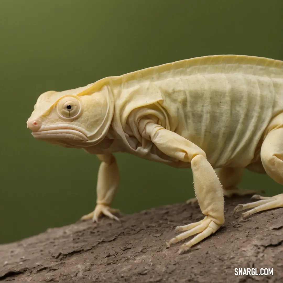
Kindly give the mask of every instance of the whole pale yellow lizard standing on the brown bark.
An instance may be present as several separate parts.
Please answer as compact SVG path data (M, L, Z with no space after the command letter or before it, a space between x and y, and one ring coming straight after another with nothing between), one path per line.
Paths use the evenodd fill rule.
M47 91L27 128L37 140L80 148L101 161L96 207L83 220L119 220L111 207L120 181L113 153L191 168L204 218L175 228L179 234L167 247L194 236L181 254L224 224L225 195L254 193L238 187L245 168L283 185L283 61L203 56ZM283 194L252 198L257 201L234 212L245 218L283 207Z

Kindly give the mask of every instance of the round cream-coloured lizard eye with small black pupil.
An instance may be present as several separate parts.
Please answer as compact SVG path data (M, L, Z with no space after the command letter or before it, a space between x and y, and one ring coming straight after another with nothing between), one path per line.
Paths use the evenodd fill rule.
M62 118L77 118L82 112L80 100L76 97L63 97L57 104L57 112Z

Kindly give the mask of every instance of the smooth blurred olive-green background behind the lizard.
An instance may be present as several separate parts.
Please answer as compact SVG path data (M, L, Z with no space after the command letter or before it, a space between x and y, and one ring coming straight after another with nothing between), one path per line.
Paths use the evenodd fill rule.
M95 207L99 161L35 140L37 97L181 59L283 59L283 1L0 0L0 243L75 222ZM117 154L113 207L133 213L194 196L191 170ZM245 188L282 187L246 172Z

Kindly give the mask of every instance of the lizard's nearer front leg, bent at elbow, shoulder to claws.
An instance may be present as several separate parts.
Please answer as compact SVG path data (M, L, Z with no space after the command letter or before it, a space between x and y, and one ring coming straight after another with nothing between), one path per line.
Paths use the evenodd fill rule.
M215 233L224 223L224 197L220 181L207 161L205 152L194 143L152 122L141 121L139 130L143 138L150 138L166 155L191 164L196 197L205 217L199 222L176 227L175 232L185 232L171 239L168 247L198 233L181 246L179 253L183 253Z

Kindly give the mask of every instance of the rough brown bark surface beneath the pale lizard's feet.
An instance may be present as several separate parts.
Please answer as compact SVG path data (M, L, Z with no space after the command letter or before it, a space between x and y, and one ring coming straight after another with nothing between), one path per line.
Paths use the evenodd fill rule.
M0 246L0 281L29 282L283 282L283 208L239 222L248 197L225 200L226 222L177 254L166 248L175 226L201 220L196 205L176 204L53 228ZM183 241L184 242L184 241ZM183 243L182 242L182 243ZM273 268L273 276L235 276L235 268Z

